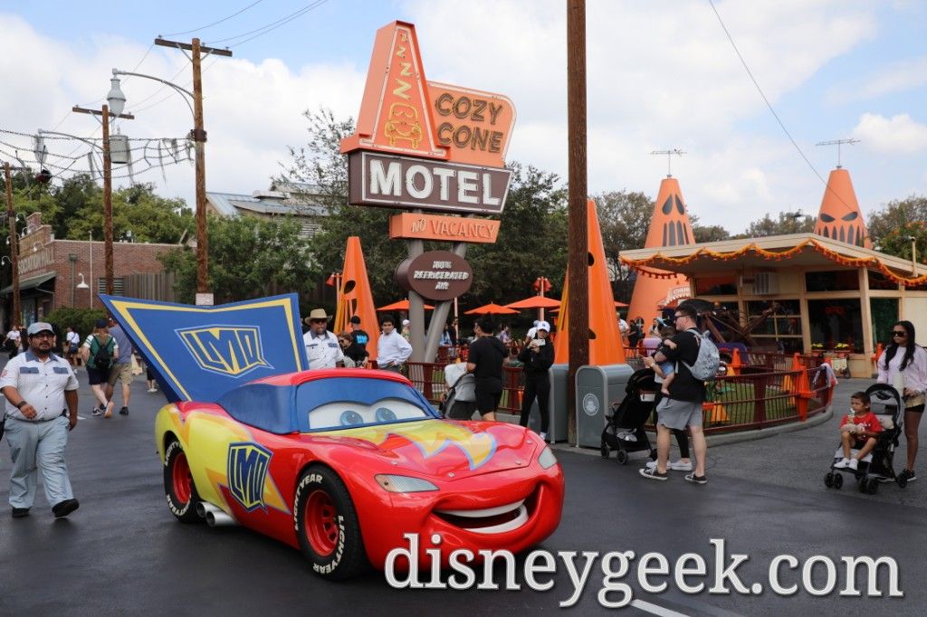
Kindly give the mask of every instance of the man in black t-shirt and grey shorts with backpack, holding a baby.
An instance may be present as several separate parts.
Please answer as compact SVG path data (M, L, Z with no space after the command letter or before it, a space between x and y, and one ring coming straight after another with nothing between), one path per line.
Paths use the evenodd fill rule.
M686 480L697 485L708 482L705 478L705 456L708 451L705 433L702 432L702 403L705 402L705 382L696 379L686 364L694 364L698 358L701 337L696 330L695 308L686 303L679 305L674 314L679 334L671 339L675 347L661 346L654 356L657 362L676 363L676 378L669 384L669 396L663 397L656 408L659 420L656 424L656 467L641 469L641 475L650 480L667 480L669 460L669 435L672 429L689 428L692 433L692 449L695 453L695 471L686 475Z

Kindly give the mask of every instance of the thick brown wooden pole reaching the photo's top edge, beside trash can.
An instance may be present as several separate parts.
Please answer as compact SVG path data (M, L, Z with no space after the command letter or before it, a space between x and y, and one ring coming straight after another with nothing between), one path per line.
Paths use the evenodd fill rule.
M589 234L586 221L586 0L566 0L566 109L569 149L569 276L566 318L567 433L576 443L576 374L589 364Z

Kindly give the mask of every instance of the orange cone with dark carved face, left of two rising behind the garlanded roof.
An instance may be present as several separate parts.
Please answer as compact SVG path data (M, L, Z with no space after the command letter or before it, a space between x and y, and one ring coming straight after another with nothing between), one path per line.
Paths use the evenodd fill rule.
M692 222L689 220L686 204L682 201L679 181L676 178L664 178L656 196L654 216L650 220L650 230L647 232L644 248L692 244L695 244ZM689 279L681 274L656 269L649 271L665 277L654 278L638 272L634 293L631 295L631 306L628 308L628 319L643 318L645 329L649 329L654 318L659 316L657 304L666 299L669 291L674 287L689 284Z

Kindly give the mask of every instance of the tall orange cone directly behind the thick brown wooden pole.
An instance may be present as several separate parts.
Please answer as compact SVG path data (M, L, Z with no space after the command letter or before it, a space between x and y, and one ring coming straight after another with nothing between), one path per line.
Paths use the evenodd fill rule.
M589 233L589 363L592 366L621 364L625 361L625 350L621 346L621 332L615 314L615 296L612 296L612 283L608 280L605 266L605 249L602 244L602 230L596 214L595 202L591 199L586 204L586 219ZM569 330L567 314L567 295L569 294L569 276L564 282L564 293L560 301L560 316L557 319L557 334L553 346L553 361L569 361Z

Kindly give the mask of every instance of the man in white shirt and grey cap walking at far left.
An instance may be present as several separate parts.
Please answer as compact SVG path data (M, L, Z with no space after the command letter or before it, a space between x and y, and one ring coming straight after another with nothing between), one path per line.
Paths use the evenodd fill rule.
M61 518L80 505L64 460L68 432L77 426L77 378L70 363L52 353L55 332L50 323L36 321L26 332L26 353L10 359L0 373L13 461L9 505L14 518L29 515L41 469L45 498Z

